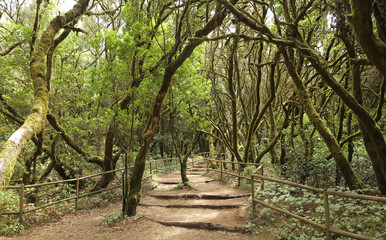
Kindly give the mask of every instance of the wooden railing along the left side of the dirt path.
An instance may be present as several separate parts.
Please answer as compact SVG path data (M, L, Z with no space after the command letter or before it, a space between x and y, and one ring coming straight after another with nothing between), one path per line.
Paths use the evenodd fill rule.
M195 161L195 159L192 158L192 161L190 162L192 164L192 166L194 166L194 161ZM161 162L164 162L163 166L162 166ZM166 162L166 164L165 164L165 162ZM147 176L143 177L142 180L146 181L148 178L150 178L152 176L152 174L160 172L160 171L164 171L164 170L172 171L176 166L179 166L178 164L179 163L178 163L176 158L150 160L150 161L148 161L146 163L146 165L149 167L149 170L150 170L149 174ZM130 166L128 167L128 169L131 169L131 168L132 167L130 167ZM116 188L120 188L122 186L122 184L120 182L118 182L117 185L112 186L112 187L108 187L108 188L104 188L104 189L101 189L101 190L97 190L97 191L92 191L92 192L81 194L80 189L79 189L80 181L84 181L86 179L91 179L91 178L99 177L99 176L102 176L104 174L123 172L123 171L124 171L124 168L120 168L120 169L116 169L116 170L106 171L106 172L103 172L103 173L89 175L89 176L77 177L77 178L74 178L74 179L66 179L66 180L46 182L46 183L38 183L38 184L30 184L30 185L21 184L21 185L18 185L18 186L6 186L5 189L15 189L15 190L19 190L20 191L19 210L17 212L0 212L0 216L1 215L17 215L19 217L19 222L21 224L24 224L24 221L23 221L23 215L24 214L30 213L30 212L34 212L34 211L37 211L37 210L40 210L40 209L43 209L43 208L47 208L47 207L50 207L50 206L53 206L53 205L56 205L56 204L59 204L59 203L62 203L62 202L70 201L70 200L75 200L75 210L78 210L78 201L79 201L80 198L86 197L86 196L89 196L89 195L93 195L93 194L97 194L97 193L101 193L101 192L105 192L105 191L110 191L110 190L113 190L113 189L116 189ZM52 186L52 185L58 185L58 184L63 184L63 183L69 183L69 182L75 183L75 185L76 185L75 186L76 191L75 191L75 195L74 196L71 196L71 197L68 197L68 198L64 198L64 199L60 199L60 200L53 201L53 202L49 202L49 203L46 203L44 205L40 205L38 207L34 207L34 208L30 208L30 209L25 209L24 205L25 205L25 190L26 189L28 189L28 188L39 189L39 188L41 188L43 186ZM37 192L36 192L36 194L37 194Z

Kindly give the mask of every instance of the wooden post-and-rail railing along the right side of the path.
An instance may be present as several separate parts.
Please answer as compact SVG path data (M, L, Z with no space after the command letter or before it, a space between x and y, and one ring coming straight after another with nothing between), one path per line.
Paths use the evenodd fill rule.
M288 215L292 218L295 218L297 220L300 220L304 223L310 224L311 226L313 226L315 228L319 228L319 229L324 230L324 232L326 234L326 239L331 239L331 233L336 233L336 234L339 234L342 236L351 237L351 238L355 238L355 239L375 240L374 238L371 238L368 236L364 236L361 234L356 234L356 233L352 233L352 232L348 232L348 231L344 231L344 230L332 227L331 219L330 219L330 204L329 204L328 196L344 197L344 198L359 199L359 200L370 200L370 201L376 201L376 202L380 202L380 203L386 203L385 197L337 192L337 191L332 191L332 190L328 190L328 189L310 187L310 186L306 186L306 185L302 185L302 184L298 184L298 183L294 183L294 182L290 182L290 181L270 178L270 177L263 175L263 164L237 163L237 162L230 162L230 161L224 161L224 160L214 160L214 159L206 159L206 160L207 160L207 164L208 164L207 165L208 171L214 171L214 172L220 173L220 178L223 178L223 174L237 177L238 185L240 185L240 179L250 180L251 196L252 196L252 206L251 207L252 207L253 215L255 215L255 213L256 213L256 203L257 203L257 204L263 205L265 207L271 208L277 212L286 214L286 215ZM209 168L209 161L214 161L214 162L220 163L220 170L210 169ZM224 163L236 164L236 166L237 166L236 171L234 171L234 172L229 172L228 170L224 171L224 168L223 168ZM243 166L246 166L246 165L257 166L257 168L250 175L250 177L245 177L245 176L241 175L241 169ZM257 172L260 172L260 174L257 174ZM279 184L284 184L284 185L289 185L289 186L296 187L296 188L309 190L309 191L314 192L314 193L323 194L325 223L324 224L317 223L317 222L309 220L303 216L299 216L295 213L292 213L290 211L287 211L285 209L276 207L274 205L268 204L262 200L257 199L257 195L259 194L259 192L264 190L264 181L271 181L271 182L275 182L275 183L279 183ZM260 185L257 189L255 189L255 183L257 183L257 182L260 183Z

